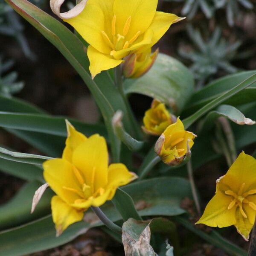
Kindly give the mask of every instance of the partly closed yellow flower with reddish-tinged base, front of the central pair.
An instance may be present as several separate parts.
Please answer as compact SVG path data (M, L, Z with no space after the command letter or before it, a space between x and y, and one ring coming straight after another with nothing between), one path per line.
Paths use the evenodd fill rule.
M175 166L182 162L187 151L194 145L193 140L197 137L190 131L184 130L184 125L177 118L177 122L169 125L157 140L155 152L164 163Z

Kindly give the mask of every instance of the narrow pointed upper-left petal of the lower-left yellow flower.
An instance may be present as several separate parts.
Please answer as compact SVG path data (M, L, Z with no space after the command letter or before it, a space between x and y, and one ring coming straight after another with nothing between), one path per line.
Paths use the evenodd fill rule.
M85 137L84 134L82 134L81 132L76 131L73 125L71 125L70 122L68 122L67 120L66 120L66 125L67 125L67 140L66 140L66 147L64 148L64 151L62 154L62 158L71 162L73 151L83 141L87 140L87 137Z

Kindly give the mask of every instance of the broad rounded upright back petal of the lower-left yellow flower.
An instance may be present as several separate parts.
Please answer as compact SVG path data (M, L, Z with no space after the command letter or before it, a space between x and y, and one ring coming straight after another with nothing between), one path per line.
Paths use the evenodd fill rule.
M73 153L72 162L94 191L105 187L108 182L108 148L104 137L94 134L81 143Z

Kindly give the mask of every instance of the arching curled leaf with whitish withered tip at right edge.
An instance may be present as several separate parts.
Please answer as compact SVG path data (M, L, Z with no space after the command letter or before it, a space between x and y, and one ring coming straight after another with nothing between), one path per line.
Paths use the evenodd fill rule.
M220 105L216 110L207 114L202 124L201 131L208 133L209 130L214 126L215 120L220 116L224 116L238 125L255 124L255 121L251 120L250 118L246 118L244 114L241 113L237 108L230 105Z

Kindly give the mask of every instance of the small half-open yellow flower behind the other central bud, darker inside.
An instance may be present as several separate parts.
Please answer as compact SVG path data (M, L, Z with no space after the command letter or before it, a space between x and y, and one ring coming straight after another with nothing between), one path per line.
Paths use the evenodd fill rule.
M176 117L169 113L165 105L154 99L151 108L145 112L142 129L147 134L159 136L175 121Z

